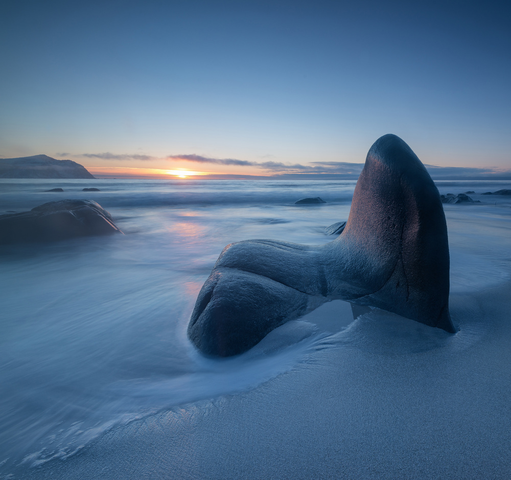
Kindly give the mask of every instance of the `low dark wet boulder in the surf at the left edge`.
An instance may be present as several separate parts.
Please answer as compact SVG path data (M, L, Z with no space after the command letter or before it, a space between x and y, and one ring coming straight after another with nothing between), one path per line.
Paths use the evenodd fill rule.
M0 215L0 244L53 242L121 232L110 213L92 200L59 200L28 212Z

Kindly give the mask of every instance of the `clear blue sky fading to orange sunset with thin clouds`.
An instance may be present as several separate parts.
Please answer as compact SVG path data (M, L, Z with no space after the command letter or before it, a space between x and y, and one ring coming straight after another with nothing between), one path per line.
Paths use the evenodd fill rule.
M506 2L3 5L0 158L324 176L393 133L425 164L511 169Z

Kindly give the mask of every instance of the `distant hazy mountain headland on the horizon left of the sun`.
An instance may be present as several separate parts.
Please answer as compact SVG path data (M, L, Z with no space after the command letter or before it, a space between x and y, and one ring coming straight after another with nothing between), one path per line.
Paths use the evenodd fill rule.
M95 178L73 160L48 155L0 159L0 178Z

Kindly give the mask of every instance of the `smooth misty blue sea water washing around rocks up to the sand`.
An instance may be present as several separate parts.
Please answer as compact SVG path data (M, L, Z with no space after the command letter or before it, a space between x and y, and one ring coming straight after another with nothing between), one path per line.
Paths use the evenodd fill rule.
M186 337L197 293L223 247L249 238L332 241L324 227L347 219L355 183L0 181L0 214L91 199L124 232L0 247L0 478L34 474L112 428L253 389L313 361L323 348L363 342L360 332L375 328L367 326L371 319L354 326L349 304L341 301L289 322L235 358L205 358ZM437 186L444 194L474 190L470 197L481 201L445 205L451 292L508 281L511 199L482 193L509 185ZM57 187L64 192L44 191ZM327 203L294 204L318 196ZM392 322L381 333L385 341L371 348L396 348L401 327ZM417 325L415 350L448 341L443 332Z

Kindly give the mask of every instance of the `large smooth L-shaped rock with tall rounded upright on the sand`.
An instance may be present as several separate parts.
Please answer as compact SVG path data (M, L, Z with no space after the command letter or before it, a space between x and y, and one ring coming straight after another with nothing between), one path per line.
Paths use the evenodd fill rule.
M225 247L199 292L188 336L204 354L240 354L277 326L334 299L455 332L440 195L395 135L370 148L349 219L333 242L261 239Z

